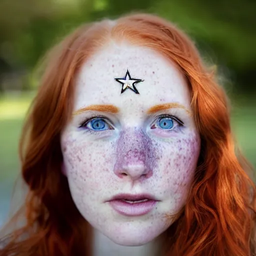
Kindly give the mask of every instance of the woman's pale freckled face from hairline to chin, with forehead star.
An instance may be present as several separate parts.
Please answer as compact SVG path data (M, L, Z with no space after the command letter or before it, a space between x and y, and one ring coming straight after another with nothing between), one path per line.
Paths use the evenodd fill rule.
M143 47L97 52L78 74L61 148L82 216L115 243L153 240L185 204L200 150L182 73Z

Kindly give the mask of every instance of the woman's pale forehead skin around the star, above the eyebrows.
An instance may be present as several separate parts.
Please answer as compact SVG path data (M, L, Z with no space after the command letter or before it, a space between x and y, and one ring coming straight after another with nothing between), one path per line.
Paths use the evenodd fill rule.
M121 93L126 70L136 83L139 94L130 89ZM135 104L177 102L189 109L190 94L186 80L178 67L149 48L111 44L92 55L81 67L76 80L74 110L90 104L115 104L118 107Z

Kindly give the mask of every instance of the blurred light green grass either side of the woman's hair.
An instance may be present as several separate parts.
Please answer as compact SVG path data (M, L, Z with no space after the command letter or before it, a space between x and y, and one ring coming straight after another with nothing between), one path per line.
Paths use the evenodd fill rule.
M0 97L0 180L14 178L19 171L17 147L24 115L32 99L31 94ZM247 101L246 101L247 102ZM232 112L232 128L245 156L256 166L256 105L237 102Z

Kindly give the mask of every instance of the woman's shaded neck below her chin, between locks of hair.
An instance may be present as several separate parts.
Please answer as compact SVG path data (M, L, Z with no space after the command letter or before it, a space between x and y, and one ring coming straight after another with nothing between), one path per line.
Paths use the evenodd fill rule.
M144 245L140 246L123 246L114 243L108 237L93 230L93 256L156 256L159 255L160 238L156 238Z

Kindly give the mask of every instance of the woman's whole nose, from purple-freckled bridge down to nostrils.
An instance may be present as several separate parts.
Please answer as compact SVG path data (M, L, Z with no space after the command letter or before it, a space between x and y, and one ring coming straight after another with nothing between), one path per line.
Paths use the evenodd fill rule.
M114 172L119 177L138 179L152 174L152 143L142 130L127 129L120 134L116 147Z

